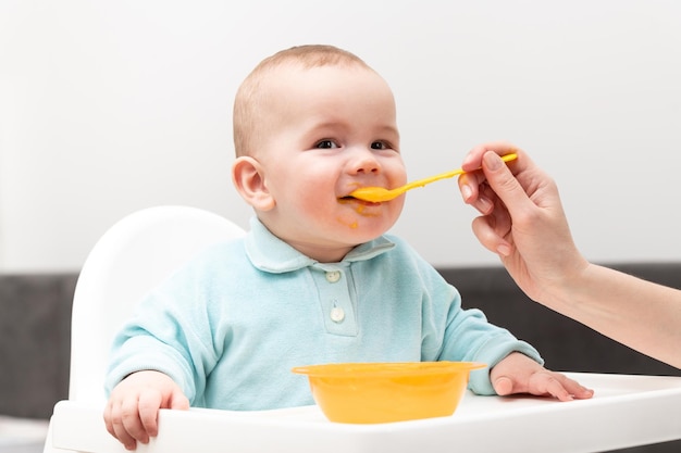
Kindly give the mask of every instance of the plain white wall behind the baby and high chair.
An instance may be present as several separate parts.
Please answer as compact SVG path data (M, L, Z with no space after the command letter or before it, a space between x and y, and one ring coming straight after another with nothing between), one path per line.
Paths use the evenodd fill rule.
M293 4L289 4L293 3ZM681 257L681 2L0 2L0 272L78 269L123 215L190 204L247 225L231 106L262 58L346 48L398 102L412 178L508 139L557 179L596 261ZM394 232L435 265L497 263L456 184Z

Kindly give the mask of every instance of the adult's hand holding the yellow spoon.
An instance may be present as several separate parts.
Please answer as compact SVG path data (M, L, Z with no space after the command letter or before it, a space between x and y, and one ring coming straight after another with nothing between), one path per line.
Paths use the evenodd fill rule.
M504 164L499 155L518 159ZM482 171L472 172L481 167ZM589 263L577 250L555 181L521 149L506 142L473 148L459 178L463 201L482 215L473 221L480 242L497 253L533 300L564 291Z

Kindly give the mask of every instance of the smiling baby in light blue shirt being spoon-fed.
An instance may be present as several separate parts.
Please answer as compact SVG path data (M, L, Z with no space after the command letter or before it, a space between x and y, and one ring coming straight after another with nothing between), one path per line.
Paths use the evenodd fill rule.
M407 181L395 100L362 60L302 46L262 61L234 105L234 185L255 211L244 239L210 248L138 306L117 335L104 419L126 449L159 408L312 404L297 365L472 361L479 394L590 398L479 310L404 240L405 197L348 194Z

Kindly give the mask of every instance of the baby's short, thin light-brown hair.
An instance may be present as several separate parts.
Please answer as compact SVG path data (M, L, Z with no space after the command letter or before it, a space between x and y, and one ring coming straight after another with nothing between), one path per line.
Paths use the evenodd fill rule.
M262 134L258 127L264 105L263 83L276 68L285 64L298 64L304 68L327 65L360 65L369 68L359 56L334 46L308 45L285 49L268 56L258 64L242 83L234 100L234 149L236 155L250 155L252 146Z

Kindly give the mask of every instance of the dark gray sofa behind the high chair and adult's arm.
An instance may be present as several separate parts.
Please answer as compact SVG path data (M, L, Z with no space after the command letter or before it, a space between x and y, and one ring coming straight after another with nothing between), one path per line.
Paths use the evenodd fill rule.
M681 289L681 262L611 267ZM483 310L492 323L535 345L552 369L681 376L679 369L531 302L502 267L439 272L459 289L465 307ZM76 280L76 274L0 276L0 415L47 419L54 403L67 398ZM678 452L681 441L627 451Z

